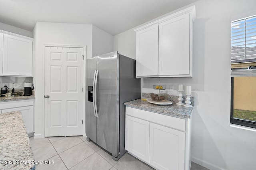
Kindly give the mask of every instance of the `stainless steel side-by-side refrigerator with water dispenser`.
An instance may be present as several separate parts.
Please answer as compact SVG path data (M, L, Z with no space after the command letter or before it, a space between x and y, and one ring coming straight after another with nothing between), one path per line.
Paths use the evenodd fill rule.
M86 60L86 136L118 160L125 153L124 102L140 99L135 60L117 51Z

